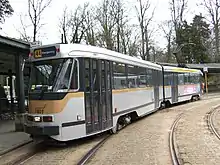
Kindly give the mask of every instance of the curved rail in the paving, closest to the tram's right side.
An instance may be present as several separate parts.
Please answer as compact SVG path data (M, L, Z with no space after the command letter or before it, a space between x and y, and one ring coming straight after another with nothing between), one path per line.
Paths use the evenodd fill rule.
M183 115L183 113L181 113L180 115L177 116L177 118L175 119L175 121L173 122L173 124L171 126L171 130L170 130L170 134L169 134L169 149L170 149L170 156L171 156L171 160L172 160L173 165L180 165L180 161L177 157L177 150L175 149L174 133L175 133L176 126L177 126L179 120L181 119L182 115Z

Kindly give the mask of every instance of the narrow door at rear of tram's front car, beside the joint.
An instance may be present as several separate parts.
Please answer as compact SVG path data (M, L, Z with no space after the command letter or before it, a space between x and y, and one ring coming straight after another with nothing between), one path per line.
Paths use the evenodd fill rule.
M160 77L159 76L160 76L159 71L153 70L155 108L159 107L159 85L160 85Z

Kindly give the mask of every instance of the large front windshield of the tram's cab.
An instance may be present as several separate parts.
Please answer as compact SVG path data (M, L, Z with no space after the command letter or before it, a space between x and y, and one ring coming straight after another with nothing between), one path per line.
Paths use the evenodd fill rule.
M70 88L74 59L33 62L30 92L66 92Z

